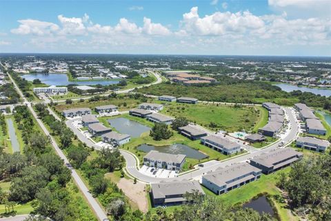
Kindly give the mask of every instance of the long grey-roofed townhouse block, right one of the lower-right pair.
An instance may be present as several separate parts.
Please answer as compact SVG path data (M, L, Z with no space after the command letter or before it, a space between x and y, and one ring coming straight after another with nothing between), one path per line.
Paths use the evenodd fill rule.
M286 166L290 166L293 162L300 160L303 157L302 153L295 151L293 148L281 148L250 160L250 164L262 170L262 173L269 174Z

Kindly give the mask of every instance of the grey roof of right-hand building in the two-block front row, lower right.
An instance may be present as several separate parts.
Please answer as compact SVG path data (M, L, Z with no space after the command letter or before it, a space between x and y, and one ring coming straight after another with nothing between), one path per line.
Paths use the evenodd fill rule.
M285 159L296 156L299 157L301 155L303 154L295 151L293 148L280 148L258 157L254 157L251 161L257 162L263 166L272 167L274 164L277 164Z

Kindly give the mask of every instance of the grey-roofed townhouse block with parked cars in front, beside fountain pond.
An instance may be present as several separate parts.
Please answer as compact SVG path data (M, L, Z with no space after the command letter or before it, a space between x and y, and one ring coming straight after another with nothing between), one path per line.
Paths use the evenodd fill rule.
M161 153L159 151L150 151L143 157L143 164L156 168L167 169L170 171L181 171L185 163L185 155Z

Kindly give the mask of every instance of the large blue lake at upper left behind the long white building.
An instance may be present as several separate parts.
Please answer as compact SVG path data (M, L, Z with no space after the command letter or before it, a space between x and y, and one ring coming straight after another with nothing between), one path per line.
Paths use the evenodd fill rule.
M67 86L68 84L78 84L78 85L109 85L117 84L119 80L99 80L99 81L69 81L66 74L28 74L21 75L24 79L28 81L33 81L34 79L39 79L43 84L55 85L55 86Z

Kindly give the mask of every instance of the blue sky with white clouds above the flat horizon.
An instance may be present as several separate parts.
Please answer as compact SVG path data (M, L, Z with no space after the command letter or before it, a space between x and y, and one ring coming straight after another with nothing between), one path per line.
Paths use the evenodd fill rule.
M331 0L0 0L0 52L331 56Z

